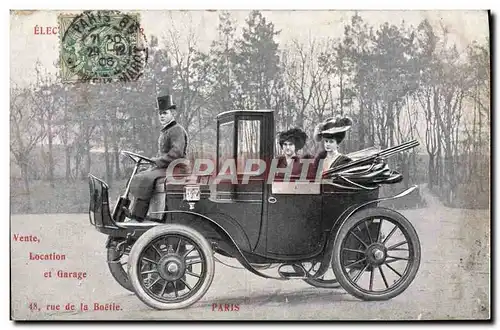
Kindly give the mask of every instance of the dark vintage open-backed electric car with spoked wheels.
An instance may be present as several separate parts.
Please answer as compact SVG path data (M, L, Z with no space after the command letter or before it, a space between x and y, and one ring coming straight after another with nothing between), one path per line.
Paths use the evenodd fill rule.
M267 170L249 175L245 159L271 165L274 137L271 110L219 114L214 171L158 180L143 222L127 217L130 180L111 208L108 185L89 174L90 222L108 235L107 262L118 283L152 308L185 308L209 289L215 261L232 258L264 278L342 287L362 300L406 290L420 265L419 238L403 215L379 203L416 186L385 198L379 187L401 180L385 159L418 143L353 154L351 163L321 180L269 180ZM150 163L123 153L135 161L131 178ZM214 173L222 173L228 159L235 160L236 177L217 180Z

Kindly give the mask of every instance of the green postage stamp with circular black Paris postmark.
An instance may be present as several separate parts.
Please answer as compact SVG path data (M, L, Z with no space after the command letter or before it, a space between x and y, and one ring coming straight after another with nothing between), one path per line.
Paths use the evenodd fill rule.
M148 60L139 16L85 11L60 19L61 69L66 81L134 81Z

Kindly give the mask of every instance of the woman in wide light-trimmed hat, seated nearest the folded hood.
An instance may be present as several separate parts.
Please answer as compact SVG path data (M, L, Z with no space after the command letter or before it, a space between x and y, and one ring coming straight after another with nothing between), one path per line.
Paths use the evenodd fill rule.
M336 166L348 163L351 159L338 151L339 144L344 140L346 132L351 128L352 120L345 118L329 118L318 124L314 129L314 140L320 143L321 151L313 163L313 176L317 171L322 173ZM320 168L320 162L323 166Z

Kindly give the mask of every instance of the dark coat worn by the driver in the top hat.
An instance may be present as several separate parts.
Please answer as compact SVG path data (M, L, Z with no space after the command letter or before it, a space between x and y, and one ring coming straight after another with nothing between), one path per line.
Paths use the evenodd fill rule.
M162 128L158 137L158 157L153 158L153 168L138 173L130 183L130 193L143 200L149 200L154 192L155 181L166 176L168 165L175 159L186 157L187 133L175 120Z

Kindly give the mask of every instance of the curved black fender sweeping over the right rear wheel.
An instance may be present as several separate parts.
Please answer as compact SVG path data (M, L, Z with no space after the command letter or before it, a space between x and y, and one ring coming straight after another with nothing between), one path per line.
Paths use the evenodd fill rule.
M339 228L349 219L353 214L356 212L359 212L360 210L366 208L367 206L374 204L374 203L379 203L379 202L384 202L388 201L391 199L396 199L396 198L401 198L403 196L406 196L413 192L415 189L417 189L417 185L413 185L410 188L400 192L397 195L394 196L389 196L389 197L383 197L383 198L378 198L374 199L368 202L364 203L359 203L356 205L352 205L349 208L347 208L335 221L333 224L331 230L330 230L330 235L328 236L328 239L326 241L326 246L325 246L325 253L323 255L323 260L321 261L321 266L319 267L318 271L314 274L313 278L318 278L323 276L326 271L328 270L328 267L330 266L330 261L332 260L333 256L333 244L337 240L338 234L339 234Z

